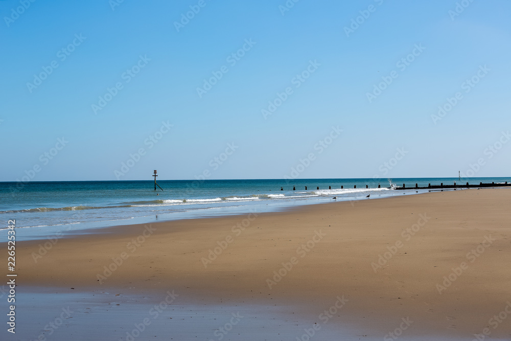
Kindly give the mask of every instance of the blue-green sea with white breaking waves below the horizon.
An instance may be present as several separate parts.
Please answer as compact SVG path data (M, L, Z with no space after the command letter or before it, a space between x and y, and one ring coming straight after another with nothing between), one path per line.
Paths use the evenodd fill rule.
M15 220L17 240L64 237L116 225L413 195L430 190L394 188L454 181L498 184L511 182L511 177L160 180L156 190L151 180L0 182L0 232ZM0 241L6 240L7 233L0 233Z

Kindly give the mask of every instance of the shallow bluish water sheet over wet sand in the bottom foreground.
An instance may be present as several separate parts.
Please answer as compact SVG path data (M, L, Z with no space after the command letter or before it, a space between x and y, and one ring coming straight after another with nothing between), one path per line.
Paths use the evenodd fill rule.
M318 319L318 312L304 312L292 305L191 303L194 298L171 289L144 295L57 288L18 287L17 291L16 334L3 328L1 339L376 341L385 336L375 326L355 327L343 321L349 311L326 321ZM396 323L389 322L387 329L393 330ZM457 340L418 335L412 328L404 330L400 339Z

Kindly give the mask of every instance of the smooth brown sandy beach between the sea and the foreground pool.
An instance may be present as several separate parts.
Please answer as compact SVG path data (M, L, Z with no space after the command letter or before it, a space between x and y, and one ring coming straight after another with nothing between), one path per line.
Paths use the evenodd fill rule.
M320 328L335 326L350 328L344 339L508 339L509 212L508 189L471 189L117 226L20 242L18 287L174 290L182 306L258 304L308 321L280 321L296 332L274 326L268 339L318 327L314 339L331 339Z

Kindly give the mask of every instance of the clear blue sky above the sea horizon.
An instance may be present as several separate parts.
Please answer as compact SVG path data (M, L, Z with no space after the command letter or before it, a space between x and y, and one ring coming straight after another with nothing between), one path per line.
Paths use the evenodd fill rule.
M511 174L509 0L31 1L1 181Z

